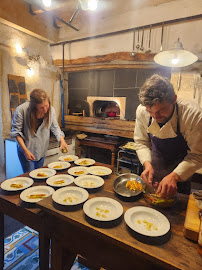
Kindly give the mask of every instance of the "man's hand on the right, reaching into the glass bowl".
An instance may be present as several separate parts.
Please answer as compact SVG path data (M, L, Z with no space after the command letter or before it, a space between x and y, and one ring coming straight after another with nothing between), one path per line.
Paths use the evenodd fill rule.
M177 182L179 181L179 175L175 172L171 172L161 180L156 194L161 197L173 197L177 192Z

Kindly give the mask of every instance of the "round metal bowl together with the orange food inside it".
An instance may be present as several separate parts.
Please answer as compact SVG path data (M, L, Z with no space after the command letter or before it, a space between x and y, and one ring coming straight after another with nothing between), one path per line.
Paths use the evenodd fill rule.
M133 197L143 192L145 183L139 175L125 173L115 179L113 188L118 195Z

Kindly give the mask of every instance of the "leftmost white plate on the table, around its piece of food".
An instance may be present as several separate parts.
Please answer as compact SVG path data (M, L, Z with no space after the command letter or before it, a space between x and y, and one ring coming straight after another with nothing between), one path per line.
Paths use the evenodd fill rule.
M18 190L23 190L30 187L33 183L34 181L29 177L15 177L1 183L1 188L7 191L18 191ZM11 184L18 184L18 185L21 184L23 185L23 187L14 188L14 187L11 187Z

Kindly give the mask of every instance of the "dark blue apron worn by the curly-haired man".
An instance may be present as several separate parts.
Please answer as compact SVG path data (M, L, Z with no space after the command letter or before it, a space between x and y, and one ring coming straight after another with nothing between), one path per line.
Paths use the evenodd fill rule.
M152 167L154 169L153 180L160 182L166 175L170 174L177 165L187 155L189 149L187 142L180 132L178 119L178 105L176 104L177 112L177 136L175 138L160 139L148 133L152 142ZM149 119L151 125L152 117ZM190 194L190 181L179 182L178 192Z

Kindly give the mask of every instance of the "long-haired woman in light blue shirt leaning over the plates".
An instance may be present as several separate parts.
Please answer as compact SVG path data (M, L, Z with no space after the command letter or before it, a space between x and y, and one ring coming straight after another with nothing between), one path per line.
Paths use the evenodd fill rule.
M30 101L16 108L10 133L11 138L16 138L18 142L18 156L24 173L43 166L50 131L60 142L60 150L65 148L68 151L64 133L46 92L34 89L30 93Z

